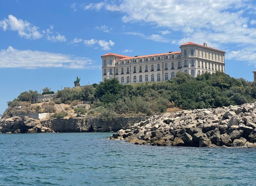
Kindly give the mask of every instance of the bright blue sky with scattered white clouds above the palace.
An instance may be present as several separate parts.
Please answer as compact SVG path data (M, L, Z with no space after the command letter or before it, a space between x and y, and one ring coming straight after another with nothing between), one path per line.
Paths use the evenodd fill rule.
M224 50L225 71L253 81L256 0L0 0L0 114L21 92L99 83L100 56Z

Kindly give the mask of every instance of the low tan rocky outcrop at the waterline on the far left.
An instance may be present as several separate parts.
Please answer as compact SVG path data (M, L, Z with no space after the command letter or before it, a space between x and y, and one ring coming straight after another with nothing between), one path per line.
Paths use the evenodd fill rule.
M43 127L40 120L29 117L12 117L0 122L0 133L47 133L54 132L50 128Z

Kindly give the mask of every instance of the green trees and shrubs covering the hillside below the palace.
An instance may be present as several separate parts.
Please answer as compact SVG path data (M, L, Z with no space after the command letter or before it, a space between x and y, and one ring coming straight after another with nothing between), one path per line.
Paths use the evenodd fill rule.
M35 91L21 93L9 108L20 101L30 101ZM177 73L175 78L165 82L120 85L117 79L100 84L86 85L81 89L65 89L57 92L53 100L57 104L77 105L89 101L90 116L109 119L118 115L152 115L170 108L202 109L229 105L241 105L256 99L256 83L242 78L236 79L217 71L204 73L196 78ZM177 111L177 108L174 108ZM5 112L10 114L9 112Z

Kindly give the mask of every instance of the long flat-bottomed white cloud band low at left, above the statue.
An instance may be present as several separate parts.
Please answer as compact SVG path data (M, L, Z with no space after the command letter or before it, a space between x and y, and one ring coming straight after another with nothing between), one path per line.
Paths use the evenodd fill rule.
M9 46L0 50L0 68L99 68L93 60L85 57L75 57L68 54L50 53L44 51L18 50ZM12 63L10 63L12 62Z

